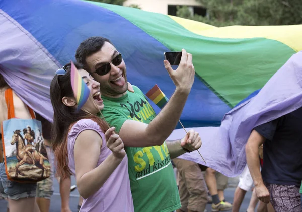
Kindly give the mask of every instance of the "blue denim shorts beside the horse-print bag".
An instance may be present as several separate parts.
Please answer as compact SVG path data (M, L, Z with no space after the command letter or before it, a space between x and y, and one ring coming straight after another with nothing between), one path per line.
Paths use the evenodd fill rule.
M0 194L3 198L18 200L36 197L37 183L18 183L10 181L5 172L5 164L0 163Z

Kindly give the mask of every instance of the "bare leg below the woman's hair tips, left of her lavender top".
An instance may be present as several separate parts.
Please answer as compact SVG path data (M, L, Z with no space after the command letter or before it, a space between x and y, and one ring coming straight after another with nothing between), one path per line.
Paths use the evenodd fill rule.
M61 212L71 212L69 207L71 178L60 180Z

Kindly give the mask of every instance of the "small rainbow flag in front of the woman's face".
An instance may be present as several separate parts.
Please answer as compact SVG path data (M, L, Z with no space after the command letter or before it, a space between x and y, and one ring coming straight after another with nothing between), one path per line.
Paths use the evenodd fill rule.
M72 91L78 103L77 111L79 111L87 101L90 94L90 90L72 61L70 78Z

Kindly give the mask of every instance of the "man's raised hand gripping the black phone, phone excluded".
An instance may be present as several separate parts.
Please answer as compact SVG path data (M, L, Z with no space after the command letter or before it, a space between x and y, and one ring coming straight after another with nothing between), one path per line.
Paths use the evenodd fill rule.
M185 49L182 49L180 63L176 70L172 69L170 62L166 59L164 60L164 64L176 86L176 89L190 93L195 77L192 54L187 53Z

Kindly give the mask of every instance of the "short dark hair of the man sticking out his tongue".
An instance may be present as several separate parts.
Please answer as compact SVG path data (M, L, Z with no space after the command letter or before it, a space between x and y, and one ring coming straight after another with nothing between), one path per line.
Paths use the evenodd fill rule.
M78 63L82 64L85 69L89 70L86 58L100 51L105 42L112 44L110 40L100 36L87 38L79 45L75 52L75 59Z

